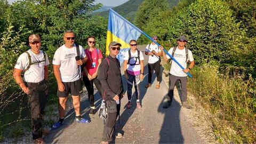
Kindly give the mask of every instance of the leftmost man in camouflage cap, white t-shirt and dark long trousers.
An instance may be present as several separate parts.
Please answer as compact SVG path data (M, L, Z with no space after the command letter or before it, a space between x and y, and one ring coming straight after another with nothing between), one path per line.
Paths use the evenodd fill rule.
M44 143L43 113L46 105L48 88L49 59L47 54L40 50L41 38L37 34L30 35L29 46L31 49L22 53L15 64L13 77L23 92L29 95L29 107L32 122L32 135L34 143ZM23 82L21 73L24 72Z

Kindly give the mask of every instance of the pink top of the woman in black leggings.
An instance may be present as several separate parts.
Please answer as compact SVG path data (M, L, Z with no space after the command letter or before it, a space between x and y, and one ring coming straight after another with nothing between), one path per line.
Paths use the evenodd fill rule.
M86 57L88 58L85 63L85 68L87 69L90 75L93 75L96 72L97 67L99 65L98 60L103 58L102 53L100 49L94 49L93 51L85 49L85 53ZM83 75L86 76L85 73Z

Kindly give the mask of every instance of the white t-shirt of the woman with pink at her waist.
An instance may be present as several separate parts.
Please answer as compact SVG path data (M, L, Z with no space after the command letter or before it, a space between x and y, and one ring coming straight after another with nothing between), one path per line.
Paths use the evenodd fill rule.
M130 63L135 63L136 62L136 57L138 57L138 52L135 51L134 53L131 51L131 59L130 59ZM129 62L129 51L126 51L125 54L124 54L124 60L127 60L127 62ZM144 60L144 57L143 57L143 54L142 52L140 51L140 60ZM137 58L137 62L136 64L139 64L139 59ZM140 74L140 65L129 65L127 63L127 70L129 71L133 71L133 72L136 72L136 71L139 71L139 74Z

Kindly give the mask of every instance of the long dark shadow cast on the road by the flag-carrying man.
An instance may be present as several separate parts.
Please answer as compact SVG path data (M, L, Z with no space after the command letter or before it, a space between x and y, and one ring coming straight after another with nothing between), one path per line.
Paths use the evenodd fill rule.
M180 87L178 81L175 85L177 88ZM179 96L181 96L180 89L178 91ZM180 126L180 103L173 98L171 107L164 109L165 99L169 99L167 94L158 107L158 112L164 114L164 122L159 132L160 138L158 143L183 143L184 139Z

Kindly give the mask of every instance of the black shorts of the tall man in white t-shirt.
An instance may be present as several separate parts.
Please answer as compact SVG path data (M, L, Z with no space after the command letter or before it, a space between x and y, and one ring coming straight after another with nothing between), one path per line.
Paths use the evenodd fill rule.
M78 79L75 82L62 82L65 86L65 90L63 92L57 91L57 95L60 98L68 97L69 92L71 95L80 95L80 91L82 91L82 81Z

